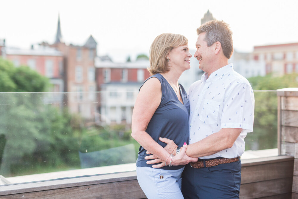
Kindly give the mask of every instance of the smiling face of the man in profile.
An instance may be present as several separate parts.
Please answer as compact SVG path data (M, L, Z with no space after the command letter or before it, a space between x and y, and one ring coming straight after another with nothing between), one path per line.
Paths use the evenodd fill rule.
M199 68L204 72L208 72L209 65L212 61L212 49L213 45L210 47L207 46L207 42L205 41L206 33L200 33L198 36L198 40L195 43L196 51L194 57L199 61ZM214 53L213 53L214 54Z

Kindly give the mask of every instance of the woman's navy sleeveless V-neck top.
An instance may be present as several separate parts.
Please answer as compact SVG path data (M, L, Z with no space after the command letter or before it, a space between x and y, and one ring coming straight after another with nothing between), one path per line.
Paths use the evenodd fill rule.
M155 75L152 75L148 79L153 77L159 79L162 85L162 99L150 122L148 123L146 132L162 147L165 147L167 144L160 141L159 137L171 139L178 146L183 146L184 142L189 144L188 120L190 109L186 91L184 90L182 85L179 84L181 98L183 100L182 104L178 100L178 97L171 85L161 74L157 73ZM150 165L146 163L148 160L145 160L145 156L148 156L148 154L146 154L146 150L142 146L140 146L138 159L136 160L136 166L152 167L152 164ZM180 169L183 166L184 165L171 167L163 166L161 169L174 170Z

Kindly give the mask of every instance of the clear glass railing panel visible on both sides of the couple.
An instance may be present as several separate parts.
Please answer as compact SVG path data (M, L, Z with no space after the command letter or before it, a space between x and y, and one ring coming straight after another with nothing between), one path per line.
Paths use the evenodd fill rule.
M137 93L0 93L0 175L135 163L139 144L131 137L131 115ZM277 148L276 91L254 96L246 150Z

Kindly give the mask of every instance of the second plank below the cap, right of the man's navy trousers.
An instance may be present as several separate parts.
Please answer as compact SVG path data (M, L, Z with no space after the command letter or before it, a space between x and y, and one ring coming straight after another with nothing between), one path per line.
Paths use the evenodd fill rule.
M240 198L261 198L292 192L293 178L247 183L240 186Z

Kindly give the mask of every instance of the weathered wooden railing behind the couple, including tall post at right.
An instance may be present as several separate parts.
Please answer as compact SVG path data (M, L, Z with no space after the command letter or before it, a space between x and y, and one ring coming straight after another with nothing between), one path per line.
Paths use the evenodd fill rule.
M298 89L277 90L279 155L242 160L240 198L298 198ZM0 198L146 198L136 172L0 186Z

